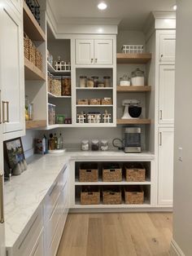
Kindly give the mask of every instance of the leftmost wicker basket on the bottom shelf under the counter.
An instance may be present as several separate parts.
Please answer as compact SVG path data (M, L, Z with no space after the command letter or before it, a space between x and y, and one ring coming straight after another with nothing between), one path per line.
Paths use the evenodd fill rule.
M100 190L97 187L87 187L81 189L81 205L99 205Z

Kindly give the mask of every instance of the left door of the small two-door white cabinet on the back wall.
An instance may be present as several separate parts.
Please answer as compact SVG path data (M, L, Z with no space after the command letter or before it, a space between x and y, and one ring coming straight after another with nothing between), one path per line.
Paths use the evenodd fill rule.
M76 64L94 64L94 40L76 39Z

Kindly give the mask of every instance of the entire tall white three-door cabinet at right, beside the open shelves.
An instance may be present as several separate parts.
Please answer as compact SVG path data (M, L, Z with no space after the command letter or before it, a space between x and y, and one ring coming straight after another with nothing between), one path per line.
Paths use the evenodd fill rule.
M173 188L175 30L157 31L156 40L157 204L166 207L172 206Z

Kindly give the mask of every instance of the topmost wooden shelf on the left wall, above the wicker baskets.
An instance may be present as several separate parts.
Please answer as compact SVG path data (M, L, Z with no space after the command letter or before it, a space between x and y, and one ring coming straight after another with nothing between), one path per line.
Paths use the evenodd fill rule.
M23 0L24 7L24 32L33 41L46 41L46 34L35 20L32 12L29 10L26 2Z

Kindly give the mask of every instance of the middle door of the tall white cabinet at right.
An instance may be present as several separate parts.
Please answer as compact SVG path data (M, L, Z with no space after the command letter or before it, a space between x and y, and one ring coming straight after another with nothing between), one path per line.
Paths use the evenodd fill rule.
M174 124L175 65L159 66L159 124Z

